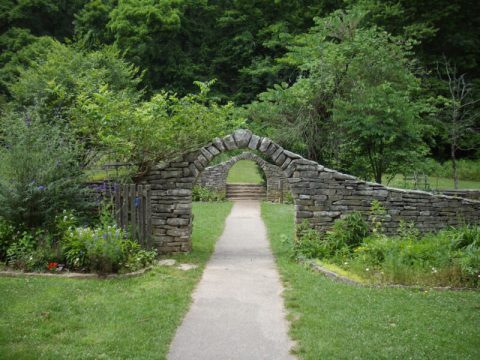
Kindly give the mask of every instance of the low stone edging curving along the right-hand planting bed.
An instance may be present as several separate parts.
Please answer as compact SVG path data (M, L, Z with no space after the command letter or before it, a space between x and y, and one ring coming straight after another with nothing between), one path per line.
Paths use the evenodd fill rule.
M400 285L400 284L390 284L390 285L374 285L374 284L363 284L361 282L355 281L350 279L349 277L339 275L332 270L325 269L324 267L316 264L314 261L311 260L302 260L303 264L309 266L316 272L321 273L325 277L336 281L341 282L347 285L356 286L356 287L363 287L363 288L374 288L374 289L410 289L410 290L418 290L418 291L428 291L428 290L436 290L436 291L480 291L480 289L475 288L457 288L452 286L434 286L434 287L425 287L425 286L416 286L416 285Z

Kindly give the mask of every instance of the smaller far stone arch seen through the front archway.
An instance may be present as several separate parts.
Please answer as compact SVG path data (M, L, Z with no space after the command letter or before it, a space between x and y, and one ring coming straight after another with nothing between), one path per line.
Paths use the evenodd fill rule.
M244 152L220 164L205 168L197 180L197 184L225 193L227 190L228 172L240 160L255 161L263 170L266 178L268 201L279 202L287 197L290 189L283 171L278 166L268 163L260 156L251 152Z

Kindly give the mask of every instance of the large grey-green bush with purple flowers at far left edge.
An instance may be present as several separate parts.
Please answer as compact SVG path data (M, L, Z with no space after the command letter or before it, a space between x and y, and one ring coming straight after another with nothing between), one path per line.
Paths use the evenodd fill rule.
M0 133L0 218L18 228L52 229L64 209L86 207L77 146L68 132L25 115Z

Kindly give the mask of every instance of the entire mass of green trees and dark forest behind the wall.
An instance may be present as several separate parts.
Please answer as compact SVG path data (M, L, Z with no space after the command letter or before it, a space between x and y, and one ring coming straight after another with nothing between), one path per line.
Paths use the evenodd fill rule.
M3 142L48 124L83 167L239 126L378 182L480 157L476 0L1 0L0 24Z

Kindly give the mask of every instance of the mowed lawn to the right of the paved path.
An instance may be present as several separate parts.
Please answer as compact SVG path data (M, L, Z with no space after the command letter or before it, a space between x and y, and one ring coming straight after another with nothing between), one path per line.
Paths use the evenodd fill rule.
M359 288L292 260L293 206L262 204L302 359L480 359L480 293Z

